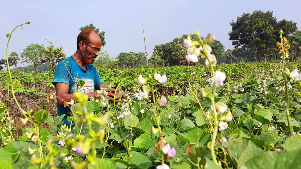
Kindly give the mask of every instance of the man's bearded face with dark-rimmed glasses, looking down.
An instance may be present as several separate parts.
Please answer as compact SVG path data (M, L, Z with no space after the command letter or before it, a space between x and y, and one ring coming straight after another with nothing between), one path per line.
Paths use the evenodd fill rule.
M99 35L97 35L94 32L91 32L90 34L90 43L88 43L91 47L94 49L100 49L101 48L101 39ZM86 64L92 64L95 60L95 58L98 56L98 52L95 52L94 49L92 49L89 45L85 44L85 48L82 51L82 60Z

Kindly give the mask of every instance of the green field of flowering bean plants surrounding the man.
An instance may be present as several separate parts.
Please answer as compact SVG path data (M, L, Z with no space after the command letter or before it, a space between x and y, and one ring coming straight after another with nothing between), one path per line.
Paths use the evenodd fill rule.
M300 70L299 63L287 63L286 67L291 72ZM71 128L58 125L62 117L55 115L56 101L51 100L54 96L47 95L54 92L51 71L12 72L12 78L21 83L13 85L17 100L20 103L24 99L39 100L33 112L30 107L34 103L26 107L22 102L23 115L19 109L11 110L12 106L17 106L14 100L7 103L7 98L11 98L11 94L7 97L9 76L8 72L0 72L1 79L5 79L1 81L3 104L0 105L2 167L300 166L297 160L301 152L299 81L290 78L288 73L287 104L279 64L217 65L215 69L226 74L223 86L215 87L212 72L206 66L99 69L105 83L114 88L130 76L118 87L123 94L122 100L114 105L106 98L86 101L79 94L80 103L70 104L73 110L70 121L74 124ZM154 73L165 74L167 82L159 83ZM147 80L143 85L137 81L140 74ZM147 96L141 95L147 90ZM214 109L219 112L216 117ZM12 114L17 119L13 119ZM16 127L16 120L23 125ZM32 123L33 127L28 127L27 123Z

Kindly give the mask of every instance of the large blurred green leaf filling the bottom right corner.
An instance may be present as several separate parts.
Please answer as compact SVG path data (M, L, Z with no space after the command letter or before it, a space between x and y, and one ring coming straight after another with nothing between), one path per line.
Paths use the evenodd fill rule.
M282 152L265 152L250 158L241 169L290 169L301 168L301 149Z

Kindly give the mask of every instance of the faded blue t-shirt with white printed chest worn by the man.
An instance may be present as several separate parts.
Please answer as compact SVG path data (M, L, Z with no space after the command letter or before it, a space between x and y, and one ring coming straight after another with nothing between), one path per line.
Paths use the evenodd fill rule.
M69 62L69 65L65 66L64 63ZM85 82L83 86L79 88L79 92L81 93L90 93L99 88L99 86L104 83L104 81L101 79L99 73L97 72L96 68L92 64L86 64L87 65L87 70L85 71L80 67L74 58L68 57L60 63L57 64L55 71L54 71L54 76L52 80L52 84L55 85L56 83L66 83L69 85L69 94L73 94L76 92L77 88L77 82L81 79ZM67 71L67 69L69 72ZM70 116L70 108L69 107L64 107L64 106L58 106L57 105L57 115L63 115L65 114L62 124L68 124L70 125L70 122L67 121L67 116Z

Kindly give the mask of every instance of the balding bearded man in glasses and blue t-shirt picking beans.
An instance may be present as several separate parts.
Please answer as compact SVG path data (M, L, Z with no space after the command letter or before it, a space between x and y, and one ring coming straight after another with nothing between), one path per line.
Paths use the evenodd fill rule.
M77 83L81 79L85 82L77 91L88 94L88 97L98 98L95 90L107 88L104 81L92 63L98 56L101 48L101 39L93 29L85 29L77 36L77 50L75 54L57 64L52 84L55 85L57 95L57 115L65 114L62 124L70 125L67 116L70 116L69 107L64 107L64 101L75 100L73 93L78 89ZM69 64L65 64L65 63ZM115 89L105 89L109 100L114 100ZM106 96L102 94L103 96ZM119 102L116 92L115 102Z

